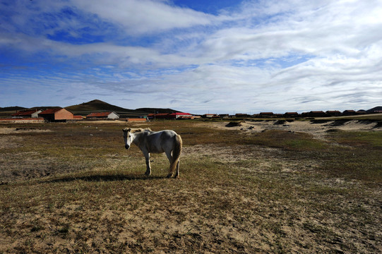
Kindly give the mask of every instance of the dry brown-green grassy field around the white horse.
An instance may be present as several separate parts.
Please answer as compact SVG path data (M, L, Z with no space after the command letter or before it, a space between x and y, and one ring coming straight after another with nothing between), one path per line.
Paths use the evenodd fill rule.
M179 179L124 124L1 125L0 253L381 253L381 131L145 126L181 135Z

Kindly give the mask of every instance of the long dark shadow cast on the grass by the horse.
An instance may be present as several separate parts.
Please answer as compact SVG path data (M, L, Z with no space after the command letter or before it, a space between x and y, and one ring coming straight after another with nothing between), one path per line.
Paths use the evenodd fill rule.
M146 175L90 175L90 176L70 176L70 177L63 177L63 178L57 178L47 181L40 181L40 183L62 183L62 182L69 182L69 181L147 181L147 180L158 180L158 179L167 179L165 176L146 176Z

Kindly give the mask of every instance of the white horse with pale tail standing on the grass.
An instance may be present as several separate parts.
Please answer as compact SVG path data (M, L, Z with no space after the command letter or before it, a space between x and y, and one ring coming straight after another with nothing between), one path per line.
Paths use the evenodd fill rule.
M169 159L169 174L167 178L174 175L174 178L179 177L179 157L181 154L182 140L180 135L175 131L151 131L150 128L124 128L125 148L129 149L131 143L138 146L146 159L146 172L150 176L150 152L162 153L165 152Z

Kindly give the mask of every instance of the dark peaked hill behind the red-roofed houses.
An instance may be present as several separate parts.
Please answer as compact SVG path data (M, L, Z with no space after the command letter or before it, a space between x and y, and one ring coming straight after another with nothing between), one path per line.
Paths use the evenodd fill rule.
M65 107L68 111L71 111L73 114L86 116L90 113L95 112L105 112L105 111L114 111L121 117L128 116L147 116L151 113L161 112L161 113L171 113L179 112L173 109L156 109L156 108L142 108L142 109L124 109L122 107L114 106L107 102L102 102L100 99L93 99L90 102L84 102L82 104L73 105Z

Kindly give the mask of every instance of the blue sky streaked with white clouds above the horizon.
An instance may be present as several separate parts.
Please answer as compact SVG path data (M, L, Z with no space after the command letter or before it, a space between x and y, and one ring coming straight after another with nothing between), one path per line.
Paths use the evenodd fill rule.
M0 107L382 106L381 0L0 3Z

